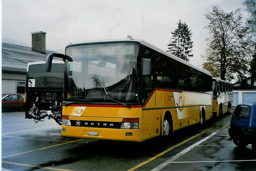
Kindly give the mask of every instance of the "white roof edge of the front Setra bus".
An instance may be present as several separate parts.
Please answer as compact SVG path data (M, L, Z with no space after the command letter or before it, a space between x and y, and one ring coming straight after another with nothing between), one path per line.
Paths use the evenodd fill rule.
M145 46L148 46L149 48L152 48L152 49L154 49L154 50L156 50L156 51L158 51L160 53L163 53L166 56L169 56L169 57L173 58L174 60L177 60L177 61L179 61L179 62L181 62L183 64L186 64L186 65L188 65L188 66L190 66L190 67L192 67L194 69L197 69L197 70L199 70L199 71L201 71L201 72L203 72L203 73L205 73L207 75L212 76L212 74L210 74L210 72L207 71L206 69L198 68L198 67L196 67L196 66L194 66L194 65L192 65L192 64L190 64L190 63L188 63L188 62L186 62L186 61L184 61L184 60L182 60L182 59L180 59L180 58L178 58L178 57L176 57L176 56L174 56L174 55L172 55L172 54L170 54L170 53L168 53L168 52L166 52L166 51L164 51L164 50L162 50L162 49L160 49L160 48L158 48L158 47L156 47L156 46L154 46L154 45L152 45L152 44L150 44L150 43L148 43L148 42L146 42L144 40L142 40L142 39L130 38L130 39L114 39L114 40L110 40L110 39L108 39L108 40L96 40L96 41L70 43L67 46L79 45L79 44L83 44L83 43L99 43L99 42L114 42L114 41L137 41L137 42L140 42L141 44L143 44Z

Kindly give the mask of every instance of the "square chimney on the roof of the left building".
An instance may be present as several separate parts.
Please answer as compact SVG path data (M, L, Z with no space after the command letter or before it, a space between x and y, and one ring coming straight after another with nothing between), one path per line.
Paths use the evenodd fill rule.
M46 32L32 32L32 50L45 54L45 35Z

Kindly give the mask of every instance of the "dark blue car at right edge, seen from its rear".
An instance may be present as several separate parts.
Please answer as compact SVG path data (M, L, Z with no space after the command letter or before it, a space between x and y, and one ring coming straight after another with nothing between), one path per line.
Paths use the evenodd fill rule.
M256 150L256 103L238 104L230 122L229 136L238 147L252 144Z

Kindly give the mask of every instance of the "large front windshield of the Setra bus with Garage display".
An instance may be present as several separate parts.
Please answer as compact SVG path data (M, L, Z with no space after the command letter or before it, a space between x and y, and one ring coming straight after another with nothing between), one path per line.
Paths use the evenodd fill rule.
M114 99L139 103L139 43L117 42L68 46L68 88L64 99ZM113 100L109 102L113 103Z

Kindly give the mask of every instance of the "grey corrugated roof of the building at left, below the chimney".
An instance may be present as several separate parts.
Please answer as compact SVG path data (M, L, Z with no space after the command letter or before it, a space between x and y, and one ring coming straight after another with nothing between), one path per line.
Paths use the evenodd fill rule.
M2 43L2 71L26 72L29 62L45 61L54 51L46 50L46 54L35 52L31 47Z

